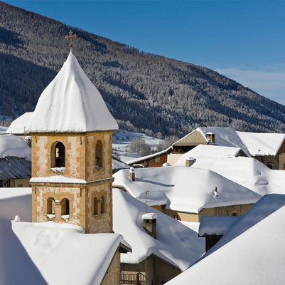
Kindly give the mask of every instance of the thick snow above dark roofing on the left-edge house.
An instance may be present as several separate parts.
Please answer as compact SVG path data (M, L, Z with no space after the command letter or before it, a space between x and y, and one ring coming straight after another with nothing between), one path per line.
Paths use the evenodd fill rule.
M0 135L0 158L9 156L22 157L31 161L31 147L16 135L2 134Z

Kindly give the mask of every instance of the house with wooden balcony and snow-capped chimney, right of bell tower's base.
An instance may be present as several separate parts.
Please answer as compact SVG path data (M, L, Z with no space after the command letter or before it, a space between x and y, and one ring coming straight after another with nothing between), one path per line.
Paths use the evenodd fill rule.
M122 284L164 284L204 253L197 232L119 189L113 189L113 219L114 232L132 249L121 257Z

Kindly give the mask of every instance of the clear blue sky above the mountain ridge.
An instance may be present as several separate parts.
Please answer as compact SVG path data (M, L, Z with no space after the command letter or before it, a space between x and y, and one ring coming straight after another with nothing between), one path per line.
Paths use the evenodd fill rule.
M285 104L285 1L6 1L141 51L213 68Z

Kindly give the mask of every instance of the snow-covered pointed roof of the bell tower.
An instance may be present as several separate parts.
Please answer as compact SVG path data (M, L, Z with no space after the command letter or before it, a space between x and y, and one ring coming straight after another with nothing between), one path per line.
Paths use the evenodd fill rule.
M59 73L38 99L29 133L117 130L116 120L70 51Z

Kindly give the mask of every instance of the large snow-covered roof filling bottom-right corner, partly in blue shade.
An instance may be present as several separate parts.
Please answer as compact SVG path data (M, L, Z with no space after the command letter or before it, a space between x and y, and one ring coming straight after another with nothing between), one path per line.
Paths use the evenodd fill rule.
M283 284L284 204L285 195L264 196L200 261L167 284Z

